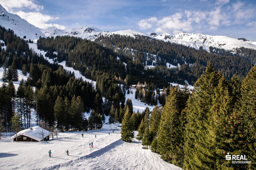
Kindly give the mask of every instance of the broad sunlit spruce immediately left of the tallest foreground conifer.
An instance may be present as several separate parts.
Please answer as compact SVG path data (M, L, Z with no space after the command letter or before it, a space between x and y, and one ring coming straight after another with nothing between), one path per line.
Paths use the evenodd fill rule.
M171 88L170 95L164 106L161 121L158 128L158 152L161 157L177 166L183 164L183 150L179 150L183 143L180 131L180 112L178 107L178 86Z

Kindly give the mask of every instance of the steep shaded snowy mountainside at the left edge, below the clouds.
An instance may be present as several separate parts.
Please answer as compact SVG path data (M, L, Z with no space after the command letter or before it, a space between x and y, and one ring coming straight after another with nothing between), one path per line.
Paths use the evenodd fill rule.
M0 25L6 29L10 28L19 37L26 36L26 39L38 39L39 36L45 37L45 35L40 31L39 28L28 23L28 21L20 18L16 14L11 14L7 12L4 7L0 4Z

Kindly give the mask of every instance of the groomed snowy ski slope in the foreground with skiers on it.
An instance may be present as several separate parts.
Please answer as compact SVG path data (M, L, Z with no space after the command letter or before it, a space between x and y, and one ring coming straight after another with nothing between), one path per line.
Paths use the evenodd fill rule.
M54 137L54 141L51 139L33 143L12 142L9 134L1 137L0 167L4 170L181 169L165 162L150 149L142 149L140 141L122 141L120 131L113 133L109 128L109 125L105 124L102 128L104 131L59 133L58 138ZM91 142L93 148L89 147ZM49 150L52 152L51 158L48 156ZM69 150L69 156L66 155L66 150Z

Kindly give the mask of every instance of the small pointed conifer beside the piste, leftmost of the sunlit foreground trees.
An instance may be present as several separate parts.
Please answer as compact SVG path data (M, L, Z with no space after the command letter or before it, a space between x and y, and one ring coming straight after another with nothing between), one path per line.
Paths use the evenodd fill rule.
M134 138L131 115L129 108L127 107L124 113L124 120L122 122L121 137L123 141L132 142Z

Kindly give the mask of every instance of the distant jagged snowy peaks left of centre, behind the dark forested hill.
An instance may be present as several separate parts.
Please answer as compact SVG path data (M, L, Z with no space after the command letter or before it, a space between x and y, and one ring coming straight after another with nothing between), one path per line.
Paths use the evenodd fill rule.
M108 31L102 31L93 26L84 26L81 28L72 28L72 29L58 29L56 27L48 27L44 29L40 29L44 35L47 37L51 36L62 36L62 35L70 35L74 37L80 37L83 39L90 39L94 41L94 39L98 38L100 35L105 35Z

